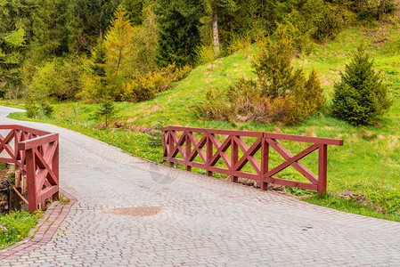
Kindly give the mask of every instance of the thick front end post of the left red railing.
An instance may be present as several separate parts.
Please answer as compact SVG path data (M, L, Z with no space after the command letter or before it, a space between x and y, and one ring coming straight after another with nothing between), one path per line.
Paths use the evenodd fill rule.
M37 210L36 163L33 150L26 150L29 212Z

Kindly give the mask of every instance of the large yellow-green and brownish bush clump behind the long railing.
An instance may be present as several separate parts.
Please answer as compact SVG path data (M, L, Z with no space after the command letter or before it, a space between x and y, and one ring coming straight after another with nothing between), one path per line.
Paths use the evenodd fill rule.
M294 69L291 39L283 31L277 36L276 44L266 39L260 45L252 62L257 79L242 78L224 92L209 90L196 111L232 123L254 120L295 125L322 109L325 97L315 70L306 79L303 69Z

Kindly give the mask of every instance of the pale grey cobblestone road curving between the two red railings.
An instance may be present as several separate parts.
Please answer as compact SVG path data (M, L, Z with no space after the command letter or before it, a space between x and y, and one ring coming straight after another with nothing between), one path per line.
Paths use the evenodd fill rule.
M10 108L0 107L0 122ZM61 188L78 202L29 266L400 266L400 223L157 166L53 125ZM175 181L164 174L170 171ZM148 217L103 214L161 206Z

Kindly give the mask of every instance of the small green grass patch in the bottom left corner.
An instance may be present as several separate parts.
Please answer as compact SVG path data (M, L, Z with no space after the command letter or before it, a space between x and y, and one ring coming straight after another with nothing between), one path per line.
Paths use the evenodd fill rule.
M40 214L20 211L0 215L0 249L10 247L28 236L31 228L37 225Z

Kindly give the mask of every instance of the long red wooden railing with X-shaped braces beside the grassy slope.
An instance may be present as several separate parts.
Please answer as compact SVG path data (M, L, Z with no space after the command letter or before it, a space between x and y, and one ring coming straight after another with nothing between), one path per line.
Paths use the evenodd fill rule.
M267 190L268 183L276 183L284 186L297 187L306 190L317 190L318 193L326 192L327 182L327 148L328 145L342 146L343 141L318 137L308 137L290 134L272 134L249 131L215 130L203 128L191 128L180 126L169 126L164 131L164 161L169 161L170 166L181 164L186 166L187 171L193 167L206 169L209 176L212 173L230 175L233 182L238 182L238 177L251 179L260 182L260 187ZM181 133L181 134L178 134ZM193 133L202 134L198 140ZM216 135L226 136L224 142L220 142ZM250 146L241 137L256 138ZM278 140L294 142L310 142L311 146L293 156L289 150L283 147ZM203 150L206 148L206 151ZM231 148L231 152L227 150ZM285 159L279 166L268 168L269 151L273 149ZM239 149L242 151L239 158ZM255 157L260 150L261 162ZM315 150L318 155L318 176L313 174L306 166L298 161L305 158ZM179 157L179 154L181 158ZM199 157L198 157L199 156ZM199 161L194 161L200 158ZM216 166L217 161L222 158L226 167ZM255 173L242 171L242 168L249 162ZM282 172L283 169L293 166L299 174L302 174L309 182L298 182L273 177ZM311 183L310 183L311 182Z

